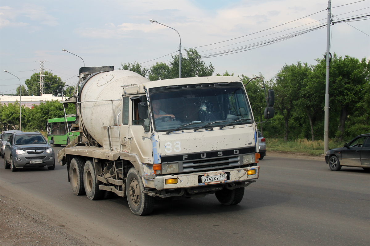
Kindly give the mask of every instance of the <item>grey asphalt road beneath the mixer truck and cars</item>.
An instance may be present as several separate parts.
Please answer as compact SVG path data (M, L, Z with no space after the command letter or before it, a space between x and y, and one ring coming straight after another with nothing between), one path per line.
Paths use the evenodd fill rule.
M360 168L266 156L238 205L214 195L158 200L136 216L126 198L73 195L66 166L13 173L3 163L2 192L100 245L370 245L370 179Z

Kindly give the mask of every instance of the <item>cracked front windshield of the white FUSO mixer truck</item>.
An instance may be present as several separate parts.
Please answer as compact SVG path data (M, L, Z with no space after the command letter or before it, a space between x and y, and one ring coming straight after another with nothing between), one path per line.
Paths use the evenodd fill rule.
M166 90L150 97L156 131L196 131L253 122L241 87Z

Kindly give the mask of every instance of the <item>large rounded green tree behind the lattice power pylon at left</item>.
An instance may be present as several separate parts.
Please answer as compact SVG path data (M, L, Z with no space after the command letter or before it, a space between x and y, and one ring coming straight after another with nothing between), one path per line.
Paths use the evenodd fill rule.
M30 79L26 79L24 82L28 88L28 95L40 96L40 73L34 73ZM61 96L64 85L65 83L57 75L48 71L44 72L44 94Z

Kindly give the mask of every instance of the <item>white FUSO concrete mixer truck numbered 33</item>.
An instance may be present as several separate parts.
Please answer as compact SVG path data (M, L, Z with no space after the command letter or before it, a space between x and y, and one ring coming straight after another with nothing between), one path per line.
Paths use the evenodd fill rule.
M149 81L112 66L81 67L74 103L80 136L58 153L75 195L127 197L136 215L155 197L215 194L238 204L258 179L258 137L239 77ZM265 117L273 117L273 91ZM267 113L266 113L267 112Z

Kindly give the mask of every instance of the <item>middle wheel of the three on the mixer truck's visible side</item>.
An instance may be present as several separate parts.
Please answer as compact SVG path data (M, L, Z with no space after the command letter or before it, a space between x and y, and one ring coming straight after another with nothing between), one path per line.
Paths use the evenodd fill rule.
M101 182L97 183L96 181L95 169L91 160L88 160L84 167L84 186L87 198L90 200L100 200L104 195L104 191L99 189Z

